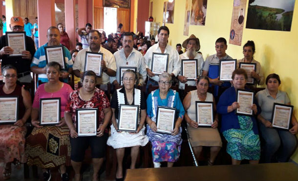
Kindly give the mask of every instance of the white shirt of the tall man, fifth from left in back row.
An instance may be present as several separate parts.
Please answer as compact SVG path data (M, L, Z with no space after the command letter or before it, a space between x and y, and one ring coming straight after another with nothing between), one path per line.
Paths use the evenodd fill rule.
M152 45L147 50L147 52L144 56L146 68L151 69L153 52L154 53L161 53L161 50L159 48L159 42ZM181 68L181 60L180 60L179 54L178 54L177 50L174 49L173 47L171 47L169 44L167 44L164 53L169 54L168 71L167 72L169 74L173 73L176 77L179 74L180 68ZM150 79L158 81L158 76L153 76Z

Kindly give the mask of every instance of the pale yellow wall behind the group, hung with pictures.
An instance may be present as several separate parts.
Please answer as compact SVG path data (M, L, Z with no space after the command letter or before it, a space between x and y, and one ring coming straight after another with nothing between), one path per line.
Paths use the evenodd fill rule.
M163 7L166 0L153 1L154 21L163 21ZM215 52L215 40L224 37L229 40L234 0L208 0L205 26L190 26L189 36L194 34L200 39L204 59ZM166 24L170 29L169 43L175 46L188 37L183 35L186 0L175 0L174 23ZM248 4L247 4L248 7ZM246 7L246 10L247 10ZM255 41L255 60L261 63L265 77L277 73L281 78L280 89L286 91L294 105L298 118L298 2L296 0L291 32L243 29L241 46L228 44L227 53L234 59L242 59L242 46L247 40ZM247 12L247 11L246 11ZM246 14L245 20L246 22ZM297 150L292 159L298 163Z

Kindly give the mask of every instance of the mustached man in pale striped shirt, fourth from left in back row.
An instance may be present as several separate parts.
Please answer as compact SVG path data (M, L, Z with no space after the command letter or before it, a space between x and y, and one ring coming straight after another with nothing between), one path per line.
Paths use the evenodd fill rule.
M122 72L120 72L120 67L135 67L138 85L145 83L147 75L145 60L143 55L133 48L132 36L133 35L129 32L124 33L122 41L123 48L114 53L117 72L116 77L110 77L110 81L113 82L114 85L121 83Z

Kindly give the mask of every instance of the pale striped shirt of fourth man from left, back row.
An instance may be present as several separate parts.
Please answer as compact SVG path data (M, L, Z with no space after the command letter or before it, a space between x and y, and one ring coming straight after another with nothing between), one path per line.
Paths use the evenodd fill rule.
M147 71L144 57L139 51L132 49L128 55L128 58L126 58L124 48L122 48L121 50L114 53L114 57L116 60L117 72L116 77L110 77L110 82L117 80L120 84L120 67L136 67L136 72L138 73L139 78L138 82L142 85L144 84Z

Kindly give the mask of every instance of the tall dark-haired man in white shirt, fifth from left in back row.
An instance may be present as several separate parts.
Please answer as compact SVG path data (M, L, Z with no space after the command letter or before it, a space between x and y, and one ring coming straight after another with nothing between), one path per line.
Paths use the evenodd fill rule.
M168 44L169 35L170 35L170 30L167 26L159 27L158 43L151 46L147 50L144 56L147 74L149 78L147 82L147 88L149 87L149 84L152 84L153 86L159 85L158 76L152 72L152 70L154 69L162 69L162 70L166 69L167 71L161 71L160 73L168 72L172 78L175 78L180 72L181 60L177 50ZM152 67L152 61L154 60L152 57L152 53L168 54L169 57L168 57L168 60L162 60L163 62L158 62L158 63L153 62L153 67ZM167 61L168 63L166 63ZM165 68L164 65L167 65L167 68ZM162 67L159 67L159 66L162 66Z

